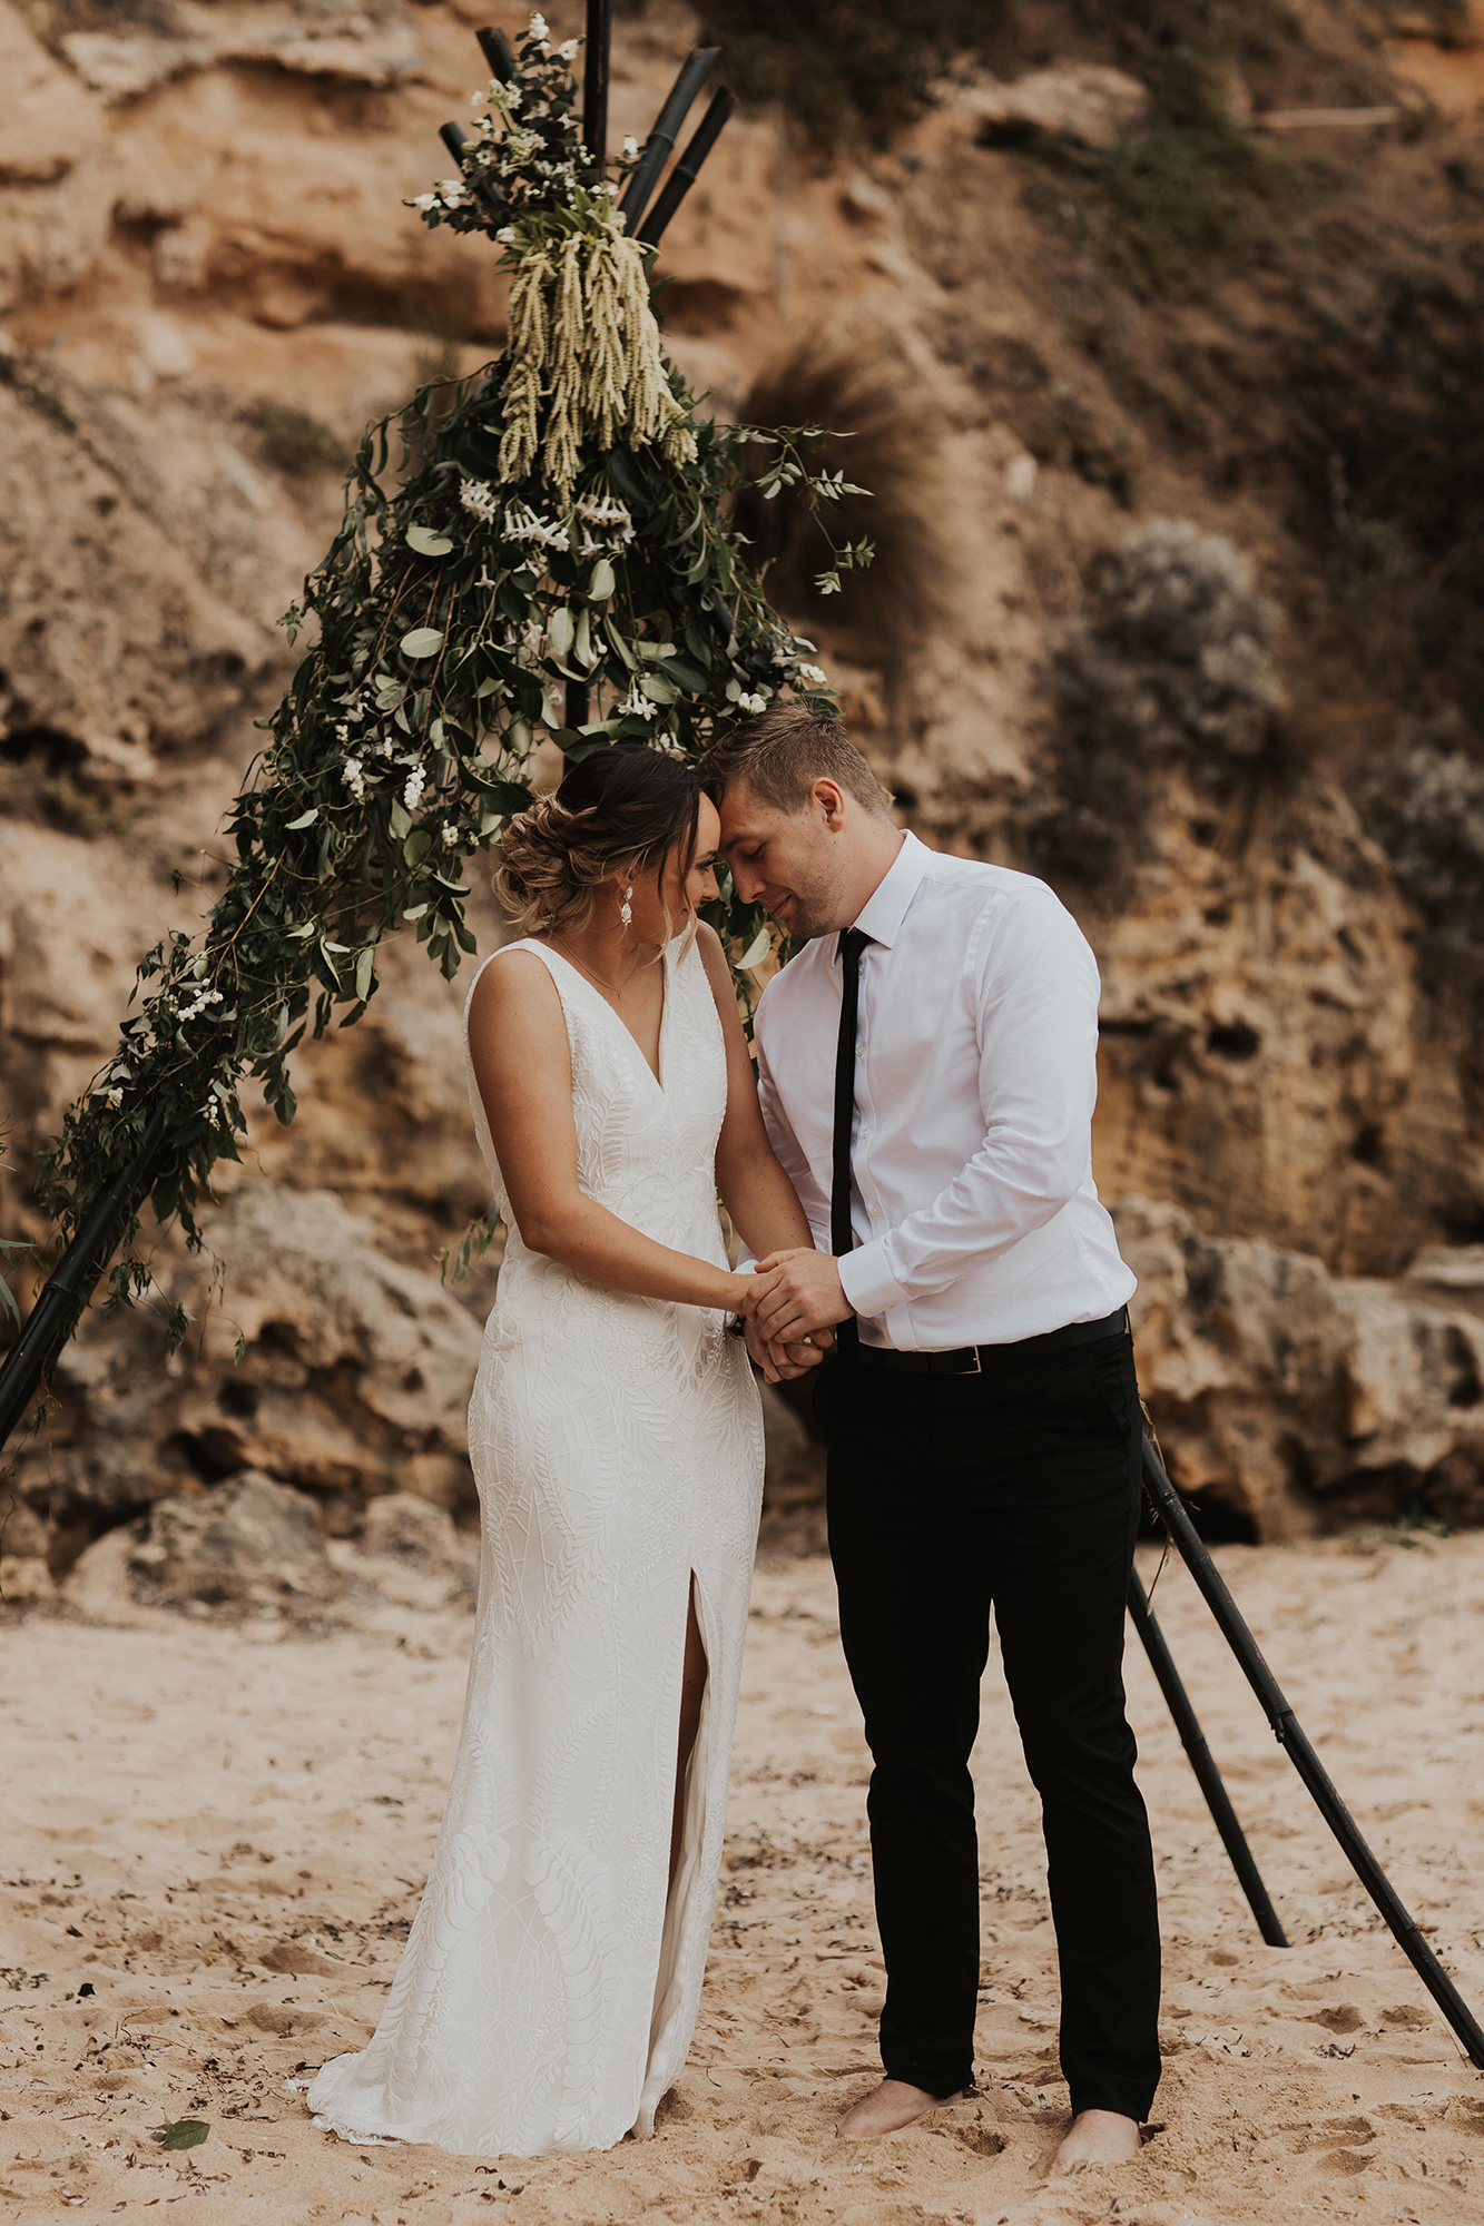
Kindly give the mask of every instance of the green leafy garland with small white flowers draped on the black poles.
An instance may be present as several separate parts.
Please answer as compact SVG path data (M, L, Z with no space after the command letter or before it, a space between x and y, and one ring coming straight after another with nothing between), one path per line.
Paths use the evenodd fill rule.
M512 107L524 102L526 118L544 109L544 131L521 125L515 149L526 162L521 232L544 198L564 223L582 220L597 187L573 169L564 60L535 29L519 56L519 98L506 91L497 105L499 194L466 200L450 183L423 196L428 220L448 223L452 203L461 229L506 247L521 167L508 151ZM470 140L470 183L490 145L488 131ZM553 147L562 160L548 160ZM238 1158L243 1080L261 1082L292 1122L290 1060L305 1035L365 1013L385 935L410 926L448 977L475 951L463 870L530 804L541 735L568 759L624 739L697 757L784 688L833 703L818 666L802 663L811 643L769 608L729 528L755 443L775 452L764 483L802 485L816 501L842 492L840 474L811 476L807 432L697 416L666 363L693 456L584 447L562 494L539 463L521 481L499 476L506 372L501 356L466 381L421 387L361 441L341 530L283 621L290 641L307 630L312 646L227 815L227 888L201 939L176 933L143 959L118 1051L42 1155L40 1195L65 1231L165 1102L154 1211L178 1215L198 1242L212 1169ZM579 726L566 723L568 683L586 690ZM726 893L717 926L740 962L758 964L760 913ZM147 1282L125 1247L111 1296L134 1298Z

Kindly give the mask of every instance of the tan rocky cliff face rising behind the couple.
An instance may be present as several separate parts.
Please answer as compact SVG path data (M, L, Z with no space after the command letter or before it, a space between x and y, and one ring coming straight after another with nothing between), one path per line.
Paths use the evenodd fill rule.
M437 125L468 111L486 13L0 0L0 1093L16 1233L42 1233L20 1171L111 1046L138 953L221 886L214 828L290 670L274 619L339 514L339 461L419 378L499 343L488 254L403 207L446 167ZM570 7L548 16L579 29ZM1119 149L1165 129L1159 89L1127 67L1127 40L1078 22L1036 11L996 80L949 89L887 149L827 158L778 109L744 109L666 236L671 347L720 410L787 421L807 387L856 430L851 472L878 487L858 521L880 541L876 583L811 601L802 543L780 545L778 579L905 819L1049 873L1094 939L1099 1180L1114 1200L1161 1202L1125 1229L1154 1289L1145 1373L1177 1469L1272 1531L1417 1494L1459 1518L1484 1458L1468 1309L1386 1278L1477 1235L1477 1091L1428 971L1428 922L1359 808L1357 737L1397 726L1410 668L1402 650L1384 666L1384 590L1366 588L1366 661L1353 601L1324 572L1330 528L1312 523L1306 476L1321 441L1292 414L1283 347L1308 345L1321 309L1326 345L1344 352L1350 332L1359 361L1404 247L1433 256L1446 292L1457 196L1477 176L1466 127L1397 93L1406 58L1368 45L1350 9L1317 11L1281 82L1257 56L1250 82L1226 85L1230 129L1243 102L1379 100L1393 122L1312 142L1328 185L1277 218L1308 240L1288 260L1232 265L1219 294L1141 292L1094 252L1085 178L1112 191ZM646 129L693 36L671 0L619 20L615 142ZM1424 245L1399 243L1402 209ZM1301 361L1319 361L1317 341ZM1415 363L1413 347L1406 376ZM1110 552L1161 519L1248 581L1241 652L1221 619L1234 605L1199 568L1163 617L1116 601ZM1397 581L1399 608L1413 588ZM1268 617L1250 619L1257 605ZM1078 628L1090 679L1072 710ZM492 908L477 926L488 948ZM332 1525L390 1487L468 1511L459 1382L495 1262L459 1304L428 1282L437 1247L484 1206L457 1011L459 986L410 948L365 1022L303 1055L294 1129L258 1124L214 1224L225 1291L205 1345L167 1367L154 1311L89 1324L51 1449L42 1431L22 1451L29 1514L7 1554L49 1547L60 1567L111 1520L238 1471L314 1489ZM294 1193L330 1198L301 1218ZM307 1267L294 1282L310 1227L334 1302ZM1221 1329L1201 1298L1212 1260ZM272 1275L294 1291L263 1298ZM201 1311L172 1240L158 1287ZM1301 1365L1279 1356L1290 1307L1310 1338ZM1422 1353L1406 1393L1382 1347Z

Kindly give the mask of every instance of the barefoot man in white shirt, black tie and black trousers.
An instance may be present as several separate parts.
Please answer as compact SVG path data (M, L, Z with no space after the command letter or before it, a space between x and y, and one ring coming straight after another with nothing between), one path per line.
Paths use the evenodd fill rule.
M755 1042L820 1249L760 1262L749 1342L775 1365L836 1333L816 1418L887 1961L885 2079L840 2133L894 2133L974 2081L969 1752L994 1605L1045 1823L1058 2166L1119 2164L1159 2081L1159 1917L1123 1712L1141 1416L1134 1278L1092 1182L1096 964L1043 881L902 835L804 703L702 770L738 895L802 946Z

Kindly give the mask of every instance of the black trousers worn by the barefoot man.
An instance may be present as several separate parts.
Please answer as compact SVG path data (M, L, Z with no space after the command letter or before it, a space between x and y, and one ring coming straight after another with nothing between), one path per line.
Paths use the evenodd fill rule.
M842 1353L820 1371L816 1416L840 1636L873 1759L885 2072L931 2095L974 2079L969 1752L994 1605L1041 1794L1072 2108L1145 2119L1159 1910L1123 1703L1141 1447L1132 1340L1012 1345L980 1376Z

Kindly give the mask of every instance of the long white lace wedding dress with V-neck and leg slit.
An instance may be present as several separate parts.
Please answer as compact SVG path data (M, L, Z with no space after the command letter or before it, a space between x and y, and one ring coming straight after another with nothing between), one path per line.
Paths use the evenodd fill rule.
M662 1084L577 968L508 948L535 951L562 997L584 1191L724 1264L726 1060L695 946L664 953ZM648 2130L691 2046L762 1420L720 1313L624 1298L526 1251L472 1068L470 1104L510 1235L468 1411L484 1556L463 1734L381 2023L307 2104L348 2137L533 2157ZM709 1678L666 1901L691 1578Z

